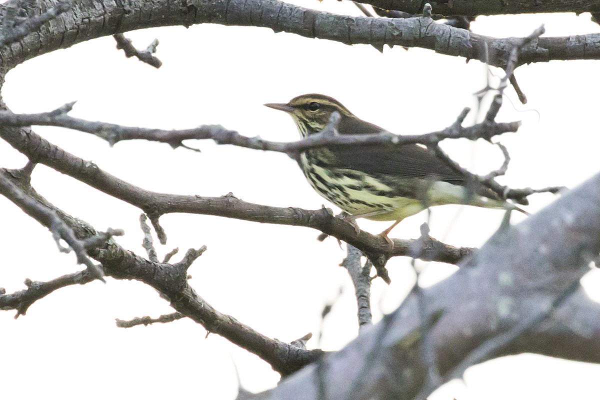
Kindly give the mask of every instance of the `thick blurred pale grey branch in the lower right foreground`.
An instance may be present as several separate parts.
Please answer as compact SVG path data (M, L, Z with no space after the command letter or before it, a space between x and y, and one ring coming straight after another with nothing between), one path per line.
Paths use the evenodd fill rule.
M443 381L466 366L523 352L600 363L600 304L578 286L600 252L598 199L600 174L526 221L503 225L458 272L422 289ZM418 308L411 294L268 398L416 399L427 377Z

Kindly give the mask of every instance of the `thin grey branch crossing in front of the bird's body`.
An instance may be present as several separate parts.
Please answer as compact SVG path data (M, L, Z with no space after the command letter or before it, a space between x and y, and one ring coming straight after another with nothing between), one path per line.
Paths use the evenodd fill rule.
M514 59L514 61L516 62L516 59ZM0 111L0 124L17 127L25 125L65 127L95 134L96 136L107 140L110 145L114 145L121 140L145 139L169 143L173 148L176 148L182 146L182 140L212 139L221 145L235 145L251 149L261 149L263 151L284 152L295 159L302 151L328 145L402 146L419 143L430 147L438 157L446 160L446 163L452 168L459 170L464 175L469 175L474 182L482 182L482 184L495 191L501 198L515 199L522 204L526 204L526 197L530 194L541 192L557 193L562 187L551 187L541 190L532 190L530 188L514 190L497 184L497 182L493 181L493 176L479 178L458 166L458 164L454 163L452 160L449 160L448 156L446 156L442 149L439 148L439 142L444 139L466 138L470 140L485 139L489 141L492 137L499 134L516 132L520 126L520 122L502 123L494 121L494 117L499 110L500 104L502 104L501 100L502 99L500 98L500 100L497 100L492 104L490 111L488 112L488 117L484 122L473 125L472 127L462 126L462 122L470 111L470 109L466 108L458 116L457 121L455 121L454 124L442 131L434 133L424 135L395 135L383 131L379 134L369 135L334 135L328 133L328 130L334 129L334 127L331 127L332 121L330 121L330 124L328 124L321 133L310 135L297 142L269 142L260 137L245 137L236 131L226 130L220 125L203 125L202 127L189 130L157 130L124 127L121 125L106 124L104 122L85 121L79 118L72 118L66 114L72 109L74 103L68 103L52 112L40 114L17 115L10 111ZM156 219L151 219L156 225ZM160 229L158 229L158 231L160 231ZM164 242L161 234L159 234L159 237L161 238L161 242Z

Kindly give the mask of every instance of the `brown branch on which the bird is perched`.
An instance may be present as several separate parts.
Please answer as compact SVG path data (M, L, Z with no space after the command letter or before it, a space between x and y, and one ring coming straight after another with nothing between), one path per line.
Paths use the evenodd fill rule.
M394 239L394 248L390 248L383 237L365 231L356 233L353 224L335 218L327 209L304 210L295 207L262 206L236 199L233 195L181 196L144 190L104 172L91 161L82 160L52 145L31 130L0 127L0 137L30 160L49 166L116 199L133 204L142 209L151 220L158 220L166 213L182 212L304 226L320 230L361 249L373 263L379 264L385 264L390 257L407 255L413 242ZM472 248L456 248L433 239L422 251L422 259L455 264L461 258L472 254L472 251Z

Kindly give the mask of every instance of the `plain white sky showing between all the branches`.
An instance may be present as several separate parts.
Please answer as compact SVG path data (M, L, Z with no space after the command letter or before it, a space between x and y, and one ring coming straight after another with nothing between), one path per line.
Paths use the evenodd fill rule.
M306 7L358 14L349 2ZM434 10L435 11L435 10ZM527 35L542 23L548 36L598 31L589 14L481 17L476 33L497 37ZM40 56L8 74L2 94L15 112L44 112L69 101L73 116L143 127L190 128L221 124L246 136L296 140L291 119L263 107L299 94L317 92L342 101L361 118L395 133L418 134L451 124L463 107L475 106L472 93L485 85L479 62L428 50L346 46L263 28L199 25L131 32L138 48L160 40L155 70L115 50L112 38L79 44ZM550 62L521 67L517 78L529 98L517 104L509 89L500 121L521 120L517 134L502 136L512 162L502 182L512 187L574 187L598 172L598 61ZM497 71L496 71L497 73ZM538 118L539 113L539 118ZM473 117L469 116L472 122ZM188 143L202 149L173 151L146 142L106 142L88 134L35 128L50 142L92 160L119 178L149 190L201 196L232 192L243 200L272 206L317 209L326 200L305 182L286 155L262 153L209 142ZM474 171L487 173L502 155L485 143L458 141L445 148ZM22 167L25 158L0 142L2 167ZM112 199L44 166L35 169L34 187L56 206L85 219L98 230L124 228L118 242L137 254L142 232L140 210ZM530 198L530 212L553 196ZM81 269L73 254L59 254L46 228L0 198L4 262L0 286L7 293L24 288L25 278L46 281ZM418 237L425 213L407 218L394 237ZM433 209L431 234L454 245L479 246L493 233L502 212L474 207ZM515 215L514 221L523 216ZM474 223L476 221L476 223ZM233 315L265 335L292 341L318 333L320 312L335 303L323 329L325 350L343 347L356 336L356 306L349 278L338 264L344 257L336 240L316 241L307 228L261 225L202 215L161 218L169 242L157 243L162 256L173 247L208 246L190 268L191 284L221 312ZM359 221L377 233L387 222ZM179 258L175 257L175 260ZM422 284L433 284L454 267L423 263ZM388 264L392 284L374 282L374 314L396 308L413 283L408 258ZM600 274L586 276L590 296L598 299ZM278 375L256 356L217 335L205 339L202 326L189 320L150 327L118 329L114 318L130 319L172 312L151 288L139 282L107 279L59 290L35 303L27 315L0 314L5 365L0 377L7 398L61 393L64 399L136 396L159 398L194 395L232 399L237 366L242 384L258 391L277 383ZM316 339L308 342L319 347ZM464 383L442 387L431 400L597 398L600 366L522 355L470 368Z

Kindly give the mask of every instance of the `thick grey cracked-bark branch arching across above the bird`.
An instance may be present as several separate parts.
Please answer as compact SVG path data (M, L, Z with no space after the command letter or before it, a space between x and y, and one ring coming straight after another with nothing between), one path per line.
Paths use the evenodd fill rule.
M2 15L6 15L6 8L17 1L2 4ZM286 31L346 44L422 47L441 54L478 59L500 68L506 67L512 44L520 40L477 35L436 23L428 17L389 19L342 16L277 0L138 0L128 2L126 7L119 2L104 0L100 3L101 6L83 1L77 10L68 10L50 20L47 26L33 29L31 34L20 40L20 46L0 50L4 73L32 56L70 47L91 38L154 26L189 26L196 23L260 26L275 32ZM50 1L43 2L40 7L43 9L44 5L51 8ZM433 11L437 12L435 9ZM43 40L40 40L40 35L43 35ZM600 59L598 43L600 34L539 38L522 50L519 65L553 59Z

